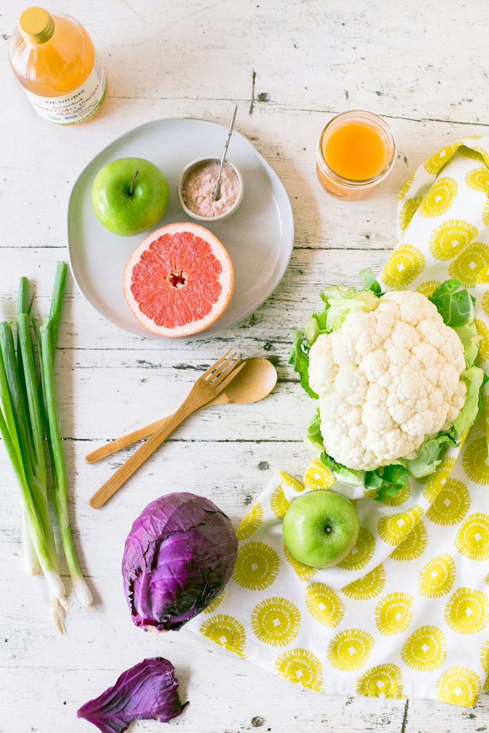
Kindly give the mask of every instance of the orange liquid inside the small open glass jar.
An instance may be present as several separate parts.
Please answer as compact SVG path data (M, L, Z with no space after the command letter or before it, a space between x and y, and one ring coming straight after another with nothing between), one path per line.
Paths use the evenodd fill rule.
M331 170L354 181L378 176L389 161L386 139L366 122L344 122L331 130L323 155Z

